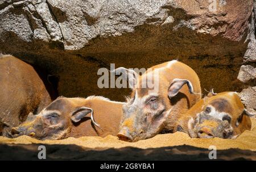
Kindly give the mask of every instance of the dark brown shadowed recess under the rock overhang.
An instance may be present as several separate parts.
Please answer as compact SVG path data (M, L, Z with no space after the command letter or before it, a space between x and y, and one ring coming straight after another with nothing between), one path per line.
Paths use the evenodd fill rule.
M230 41L221 36L195 33L188 28L172 30L172 25L143 24L131 33L115 37L96 37L78 51L51 48L51 43L20 40L13 32L4 32L7 40L0 41L0 51L39 66L55 76L59 95L88 97L102 95L124 101L130 89L100 89L97 86L98 69L150 68L166 61L178 59L191 66L199 75L202 90L220 93L240 92L245 86L237 81L247 43ZM6 44L6 42L12 44ZM56 81L58 80L58 81ZM109 84L110 86L110 84ZM206 93L206 92L205 92Z

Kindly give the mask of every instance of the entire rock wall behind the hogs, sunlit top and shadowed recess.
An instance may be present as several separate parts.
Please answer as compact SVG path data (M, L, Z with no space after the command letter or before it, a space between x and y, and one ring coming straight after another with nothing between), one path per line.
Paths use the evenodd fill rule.
M0 0L0 52L46 69L67 97L124 100L130 90L97 87L99 68L172 59L207 90L245 93L256 85L255 9L253 0Z

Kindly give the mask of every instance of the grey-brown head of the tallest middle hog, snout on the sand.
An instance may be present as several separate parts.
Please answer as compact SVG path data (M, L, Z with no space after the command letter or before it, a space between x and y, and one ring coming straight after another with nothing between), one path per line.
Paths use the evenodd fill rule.
M130 69L125 71L125 68L122 68L121 70L124 73L131 72ZM154 88L142 87L145 75L135 78L136 75L127 74L134 85L131 97L123 105L123 119L117 135L123 141L138 141L157 135L164 128L164 121L167 120L172 110L170 99L185 84L188 85L189 92L193 93L192 84L186 79L173 79L171 84L160 80L159 90L155 91ZM154 77L151 78L154 79Z

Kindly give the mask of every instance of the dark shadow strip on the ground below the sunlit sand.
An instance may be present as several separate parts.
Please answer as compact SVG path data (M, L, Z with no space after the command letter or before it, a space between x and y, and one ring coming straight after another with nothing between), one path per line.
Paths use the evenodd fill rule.
M0 160L39 160L38 146L0 145ZM77 145L44 145L46 160L209 160L211 150L193 146L155 149L87 149ZM256 152L241 149L217 150L217 160L256 160Z

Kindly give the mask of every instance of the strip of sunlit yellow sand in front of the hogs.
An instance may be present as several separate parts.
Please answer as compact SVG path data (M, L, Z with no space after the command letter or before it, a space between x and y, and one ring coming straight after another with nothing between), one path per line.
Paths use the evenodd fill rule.
M199 148L209 148L214 145L217 149L249 149L256 151L256 119L252 119L253 126L251 131L245 131L237 137L237 139L191 139L187 134L176 132L173 134L157 135L151 139L141 140L138 142L125 142L118 140L115 136L101 137L69 137L64 140L45 140L40 141L32 139L28 136L20 136L15 139L0 137L2 144L75 144L84 146L86 148L123 148L126 146L133 146L136 148L159 148L163 146L177 146L177 145L191 145Z

